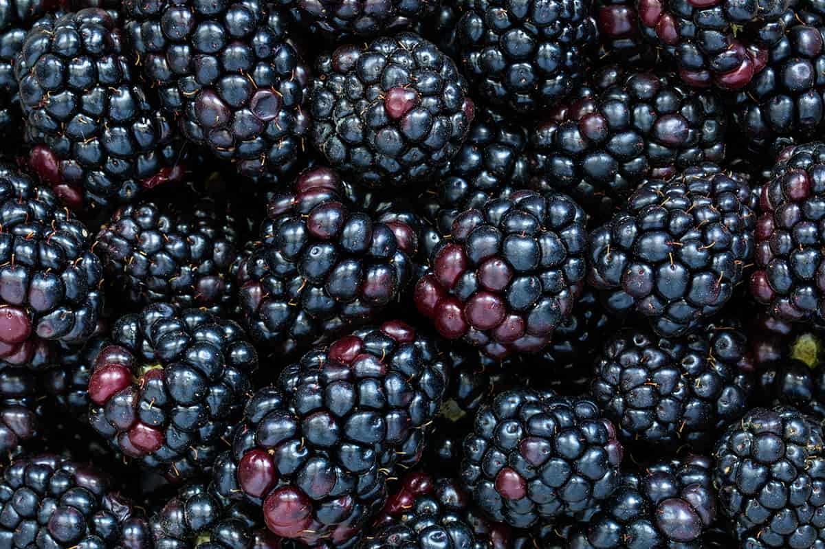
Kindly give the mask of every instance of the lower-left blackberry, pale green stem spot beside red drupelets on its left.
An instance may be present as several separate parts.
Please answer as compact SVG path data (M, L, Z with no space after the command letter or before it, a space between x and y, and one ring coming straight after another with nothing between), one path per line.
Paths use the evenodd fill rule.
M255 348L233 321L155 303L120 317L95 358L89 423L171 480L208 472L244 395Z

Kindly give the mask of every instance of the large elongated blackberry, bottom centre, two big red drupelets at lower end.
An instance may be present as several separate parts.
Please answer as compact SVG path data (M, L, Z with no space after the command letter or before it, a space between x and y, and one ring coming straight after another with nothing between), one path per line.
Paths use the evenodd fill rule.
M280 537L350 547L388 477L421 458L447 367L433 340L400 321L304 354L247 401L214 467L219 494L261 506Z

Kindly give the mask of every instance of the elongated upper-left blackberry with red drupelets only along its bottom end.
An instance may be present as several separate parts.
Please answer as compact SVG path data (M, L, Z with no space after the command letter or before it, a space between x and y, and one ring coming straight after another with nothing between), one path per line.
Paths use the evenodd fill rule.
M98 8L46 16L15 66L29 165L70 208L125 203L183 175L181 140Z

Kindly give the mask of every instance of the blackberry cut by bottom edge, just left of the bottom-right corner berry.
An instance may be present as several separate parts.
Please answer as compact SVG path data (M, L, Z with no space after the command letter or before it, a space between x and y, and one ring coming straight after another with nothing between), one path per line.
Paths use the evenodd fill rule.
M689 455L626 473L601 511L573 528L567 547L707 547L703 534L717 507L713 468L713 460Z

